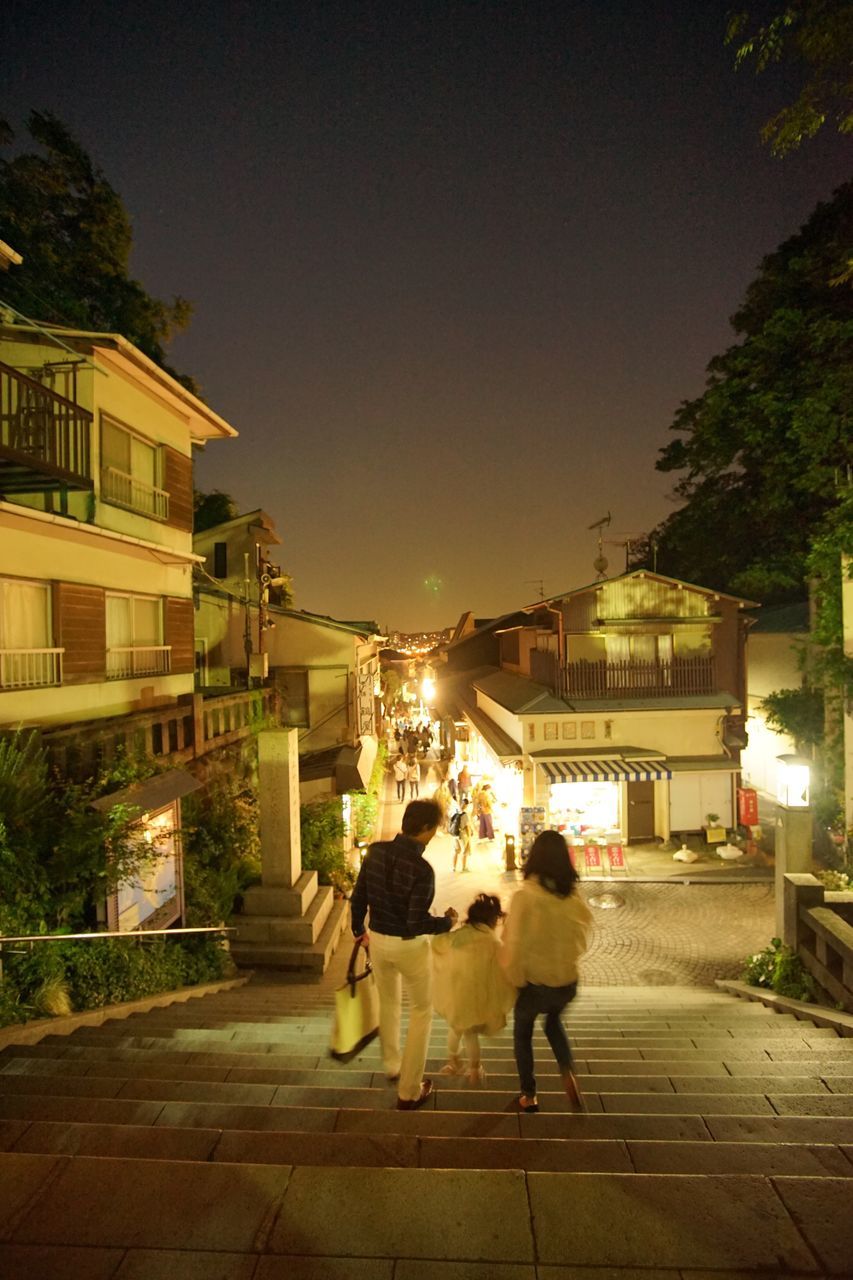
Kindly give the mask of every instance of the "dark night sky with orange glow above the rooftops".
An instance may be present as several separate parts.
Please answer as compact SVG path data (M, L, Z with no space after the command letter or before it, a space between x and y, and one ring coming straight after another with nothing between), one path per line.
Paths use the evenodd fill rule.
M297 607L506 612L671 509L675 408L850 177L761 145L792 82L731 70L729 8L6 3L0 114L55 111L195 302L172 361L241 433L196 484L270 513Z

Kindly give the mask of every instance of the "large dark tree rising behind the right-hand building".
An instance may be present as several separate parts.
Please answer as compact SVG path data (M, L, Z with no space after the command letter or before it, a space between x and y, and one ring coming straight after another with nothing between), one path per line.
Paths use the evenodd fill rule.
M812 539L853 465L853 293L833 269L853 243L853 183L766 257L679 408L657 468L684 506L654 531L662 572L763 602L802 598Z

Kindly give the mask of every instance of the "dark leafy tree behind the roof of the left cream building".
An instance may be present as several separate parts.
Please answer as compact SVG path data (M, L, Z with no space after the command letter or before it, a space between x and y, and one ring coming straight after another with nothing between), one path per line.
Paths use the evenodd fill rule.
M4 300L41 321L120 333L199 394L193 379L169 367L165 352L188 325L191 303L164 302L131 278L128 212L61 120L32 111L27 131L40 150L0 159L0 227L23 256L4 278ZM13 142L0 122L0 147Z

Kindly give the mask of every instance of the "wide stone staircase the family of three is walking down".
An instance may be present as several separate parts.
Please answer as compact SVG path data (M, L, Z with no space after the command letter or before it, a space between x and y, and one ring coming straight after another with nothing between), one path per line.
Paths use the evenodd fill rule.
M0 1276L611 1280L853 1275L853 1039L708 988L587 987L587 1112L539 1036L394 1110L333 988L252 982L0 1052Z

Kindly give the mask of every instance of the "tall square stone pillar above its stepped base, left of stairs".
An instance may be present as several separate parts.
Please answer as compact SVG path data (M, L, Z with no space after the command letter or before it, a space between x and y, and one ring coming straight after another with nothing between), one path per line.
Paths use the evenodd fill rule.
M302 874L300 844L300 760L295 728L257 735L261 882L292 888Z

